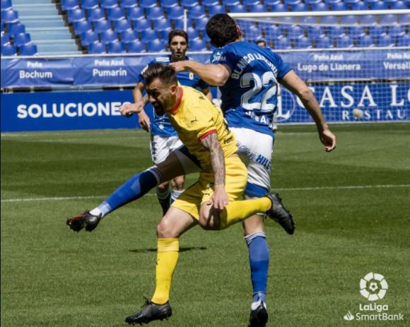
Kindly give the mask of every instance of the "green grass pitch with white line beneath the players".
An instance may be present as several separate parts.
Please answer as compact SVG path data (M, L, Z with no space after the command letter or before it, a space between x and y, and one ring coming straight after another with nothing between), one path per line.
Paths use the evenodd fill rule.
M334 153L314 126L277 133L272 186L297 229L291 237L266 221L268 326L409 326L410 124L332 131ZM120 208L92 233L66 226L151 165L148 140L136 130L1 135L1 326L127 326L151 297L156 196ZM180 247L173 316L151 325L247 326L252 287L240 225L195 227ZM377 304L405 321L344 321L370 303L359 293L370 272L389 284Z

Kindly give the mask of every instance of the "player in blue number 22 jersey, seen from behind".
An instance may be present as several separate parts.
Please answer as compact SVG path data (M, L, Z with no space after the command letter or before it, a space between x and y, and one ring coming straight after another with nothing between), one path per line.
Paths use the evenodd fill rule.
M300 98L316 123L325 150L334 150L336 138L329 131L315 96L278 54L242 42L240 28L227 14L213 16L206 25L206 33L218 48L211 56L211 64L179 61L172 66L176 71L191 71L210 85L219 86L225 119L238 139L239 153L249 162L245 196L264 196L271 187L272 123L279 83ZM254 215L243 225L254 287L249 326L265 326L269 249L262 216Z

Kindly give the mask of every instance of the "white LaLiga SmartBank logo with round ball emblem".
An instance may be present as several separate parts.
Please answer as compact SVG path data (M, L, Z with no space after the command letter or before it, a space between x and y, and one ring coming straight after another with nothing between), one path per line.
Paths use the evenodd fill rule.
M360 293L370 301L359 304L356 314L348 311L343 316L346 321L404 321L404 314L392 314L389 312L388 304L377 304L375 301L385 297L389 285L385 276L380 273L368 273L361 278Z

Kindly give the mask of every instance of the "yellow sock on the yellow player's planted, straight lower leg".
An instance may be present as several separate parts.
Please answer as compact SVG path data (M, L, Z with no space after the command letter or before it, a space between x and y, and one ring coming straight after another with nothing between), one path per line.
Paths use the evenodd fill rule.
M164 304L170 299L170 287L180 250L179 239L158 239L156 291L151 299L156 304Z

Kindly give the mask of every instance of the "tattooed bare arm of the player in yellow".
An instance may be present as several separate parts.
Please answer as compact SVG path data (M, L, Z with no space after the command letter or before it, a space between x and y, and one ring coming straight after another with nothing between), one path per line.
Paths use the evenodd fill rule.
M225 157L218 141L218 134L209 134L201 140L201 143L211 152L211 165L214 176L214 192L211 196L213 207L222 210L228 205L228 194L225 192Z

